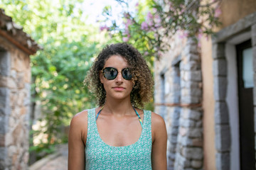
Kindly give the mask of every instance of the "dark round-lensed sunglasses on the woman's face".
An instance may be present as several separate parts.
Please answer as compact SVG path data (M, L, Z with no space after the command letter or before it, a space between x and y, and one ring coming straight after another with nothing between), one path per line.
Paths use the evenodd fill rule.
M113 67L105 67L102 69L103 76L108 79L112 80L117 77L117 74L119 73L116 68ZM132 79L132 72L129 70L129 68L124 68L121 71L122 77L126 80Z

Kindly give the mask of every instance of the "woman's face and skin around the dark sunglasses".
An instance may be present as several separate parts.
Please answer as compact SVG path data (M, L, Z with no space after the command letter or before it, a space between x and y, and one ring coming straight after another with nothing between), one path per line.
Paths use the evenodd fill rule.
M103 68L106 67L112 67L114 69L117 69L118 71L117 77L115 77L115 79L112 80L106 79L103 73L100 72L100 81L104 85L104 89L106 91L106 99L108 100L108 98L114 98L130 100L130 94L133 86L132 80L124 79L124 77L127 76L127 72L125 72L125 70L124 77L121 73L123 69L129 67L127 60L125 60L124 57L121 57L119 55L112 55L106 60ZM112 73L114 72L114 69L107 73L113 76Z

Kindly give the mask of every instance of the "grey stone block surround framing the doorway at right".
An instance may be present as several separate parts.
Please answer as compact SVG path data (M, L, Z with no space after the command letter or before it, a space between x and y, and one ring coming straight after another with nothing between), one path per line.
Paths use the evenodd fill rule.
M213 38L213 76L215 98L215 149L216 168L230 169L230 120L226 102L227 94L227 61L225 55L225 42L240 33L250 30L252 39L252 55L254 66L254 84L256 84L256 13L251 13L237 23L220 30ZM256 90L254 86L253 100L255 108L255 132L256 132ZM255 138L256 139L256 138ZM256 150L256 147L255 147Z

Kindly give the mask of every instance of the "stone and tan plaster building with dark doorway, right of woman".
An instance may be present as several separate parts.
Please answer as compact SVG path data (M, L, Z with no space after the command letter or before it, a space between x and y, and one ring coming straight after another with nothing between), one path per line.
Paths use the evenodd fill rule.
M256 3L225 0L220 8L213 38L198 45L175 35L155 62L168 169L255 169Z

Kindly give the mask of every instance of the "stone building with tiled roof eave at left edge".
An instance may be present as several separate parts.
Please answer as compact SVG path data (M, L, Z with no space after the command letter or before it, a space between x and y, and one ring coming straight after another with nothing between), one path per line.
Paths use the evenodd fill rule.
M0 8L0 169L28 169L30 55L38 45Z

